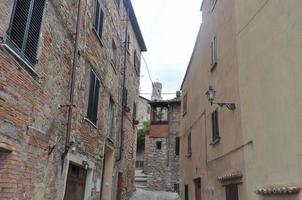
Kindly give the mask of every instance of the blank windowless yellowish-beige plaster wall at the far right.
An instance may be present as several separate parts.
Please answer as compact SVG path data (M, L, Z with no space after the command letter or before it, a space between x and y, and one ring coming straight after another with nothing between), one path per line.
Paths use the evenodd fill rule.
M236 1L248 200L258 187L301 185L302 1Z

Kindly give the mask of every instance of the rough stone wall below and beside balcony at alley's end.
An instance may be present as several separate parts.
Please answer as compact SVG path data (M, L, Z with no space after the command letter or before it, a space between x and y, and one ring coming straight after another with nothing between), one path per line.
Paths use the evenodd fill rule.
M146 135L144 171L148 175L147 184L151 190L174 191L174 184L179 184L179 156L175 154L179 117L180 102L170 104L168 128L160 129L168 130L168 134L159 133L157 137ZM151 123L151 129L152 126L158 127ZM161 142L161 149L157 148L157 142Z

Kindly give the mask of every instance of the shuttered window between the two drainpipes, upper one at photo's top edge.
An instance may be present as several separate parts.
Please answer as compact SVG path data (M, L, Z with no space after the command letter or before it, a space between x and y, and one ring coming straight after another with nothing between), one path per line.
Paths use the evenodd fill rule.
M103 25L104 25L104 11L101 7L100 0L95 0L93 28L100 40L102 40L102 36L103 36Z

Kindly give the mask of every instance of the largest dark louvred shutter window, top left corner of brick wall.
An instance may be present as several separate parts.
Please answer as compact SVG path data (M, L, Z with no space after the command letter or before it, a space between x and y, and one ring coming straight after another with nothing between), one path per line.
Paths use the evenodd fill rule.
M7 44L29 65L37 63L37 53L45 0L16 0L7 31Z

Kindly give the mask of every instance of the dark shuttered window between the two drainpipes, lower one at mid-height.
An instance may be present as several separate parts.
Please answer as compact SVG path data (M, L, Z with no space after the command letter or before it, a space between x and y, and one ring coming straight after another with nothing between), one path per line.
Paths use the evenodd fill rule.
M99 89L100 89L100 79L97 77L95 72L91 70L87 118L93 124L96 124L97 122Z

